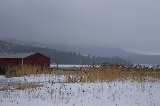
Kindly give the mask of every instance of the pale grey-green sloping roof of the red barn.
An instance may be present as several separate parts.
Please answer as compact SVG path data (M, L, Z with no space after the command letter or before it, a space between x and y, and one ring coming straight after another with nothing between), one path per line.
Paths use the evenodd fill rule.
M0 54L0 58L26 58L36 53Z

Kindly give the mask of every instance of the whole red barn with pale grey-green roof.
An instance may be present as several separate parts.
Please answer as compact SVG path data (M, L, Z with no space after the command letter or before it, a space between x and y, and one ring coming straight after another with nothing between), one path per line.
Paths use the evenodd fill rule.
M50 67L50 58L40 53L0 54L0 66L36 65Z

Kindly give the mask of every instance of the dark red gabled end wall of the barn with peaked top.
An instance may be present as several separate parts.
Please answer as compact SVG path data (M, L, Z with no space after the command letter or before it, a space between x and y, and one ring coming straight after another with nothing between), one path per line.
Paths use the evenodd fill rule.
M23 62L24 64L29 64L29 65L50 67L50 58L44 55L41 55L39 53L36 53L34 55L24 58Z

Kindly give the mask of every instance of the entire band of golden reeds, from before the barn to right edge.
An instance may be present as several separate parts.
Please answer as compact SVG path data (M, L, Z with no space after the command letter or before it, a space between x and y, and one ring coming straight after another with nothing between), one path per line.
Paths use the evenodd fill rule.
M23 66L8 69L7 77L20 77L24 75L52 74L64 75L66 82L110 82L117 80L154 81L160 80L160 69L151 68L128 68L119 66L103 66L98 68L81 69L77 71L50 70L36 66Z

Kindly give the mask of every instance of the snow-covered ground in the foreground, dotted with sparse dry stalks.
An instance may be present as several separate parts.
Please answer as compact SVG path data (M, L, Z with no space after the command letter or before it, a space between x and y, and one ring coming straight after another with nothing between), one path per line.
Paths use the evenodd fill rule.
M40 87L0 90L0 106L160 106L160 82L131 80L65 83L64 76L36 75L5 78L9 82L39 83Z

